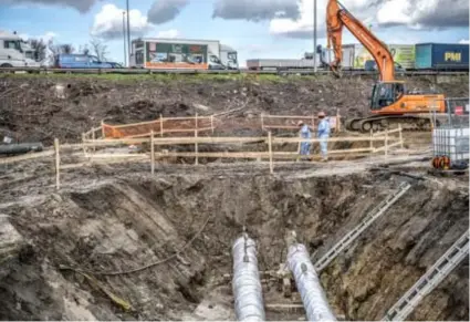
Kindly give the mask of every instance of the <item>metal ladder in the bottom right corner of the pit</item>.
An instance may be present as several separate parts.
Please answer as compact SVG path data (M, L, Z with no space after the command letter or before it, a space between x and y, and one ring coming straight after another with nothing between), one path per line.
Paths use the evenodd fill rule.
M467 230L446 253L388 310L382 321L404 321L419 302L467 257L469 231Z

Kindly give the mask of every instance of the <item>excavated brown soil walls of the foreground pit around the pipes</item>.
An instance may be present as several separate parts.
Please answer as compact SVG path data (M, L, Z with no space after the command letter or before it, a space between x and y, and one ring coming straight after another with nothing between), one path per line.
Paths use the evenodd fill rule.
M152 178L148 164L95 166L64 173L55 191L48 168L34 162L2 172L2 320L233 320L223 274L243 226L259 245L260 270L278 270L292 230L318 258L406 180L409 193L321 276L336 315L377 320L469 226L468 184L419 170L424 180L352 165L279 166L275 176L257 165L161 165ZM95 272L102 288L61 266ZM460 264L410 319L467 321L468 278ZM263 289L267 303L294 301L275 282Z

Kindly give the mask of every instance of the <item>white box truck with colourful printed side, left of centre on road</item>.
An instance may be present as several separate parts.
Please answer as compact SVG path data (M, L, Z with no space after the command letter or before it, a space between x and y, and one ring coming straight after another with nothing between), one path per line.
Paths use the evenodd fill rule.
M130 67L238 70L237 51L218 40L139 38L132 41Z

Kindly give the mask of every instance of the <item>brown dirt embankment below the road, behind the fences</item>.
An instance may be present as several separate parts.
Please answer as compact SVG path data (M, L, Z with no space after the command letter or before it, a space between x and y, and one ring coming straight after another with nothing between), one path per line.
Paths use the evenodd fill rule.
M412 76L408 89L468 97L468 76ZM368 113L372 76L0 75L0 135L50 145L76 142L104 120L132 123L224 113L216 135L257 135L259 115ZM63 97L56 86L63 86Z

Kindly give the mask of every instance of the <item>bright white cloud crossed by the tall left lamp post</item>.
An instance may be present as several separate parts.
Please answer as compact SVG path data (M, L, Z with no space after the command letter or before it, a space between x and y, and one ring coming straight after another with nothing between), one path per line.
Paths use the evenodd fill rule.
M96 13L91 34L103 39L119 39L123 37L123 12L114 4L105 4ZM152 31L154 25L147 21L139 10L129 11L130 34L140 37ZM126 23L127 28L127 23Z

